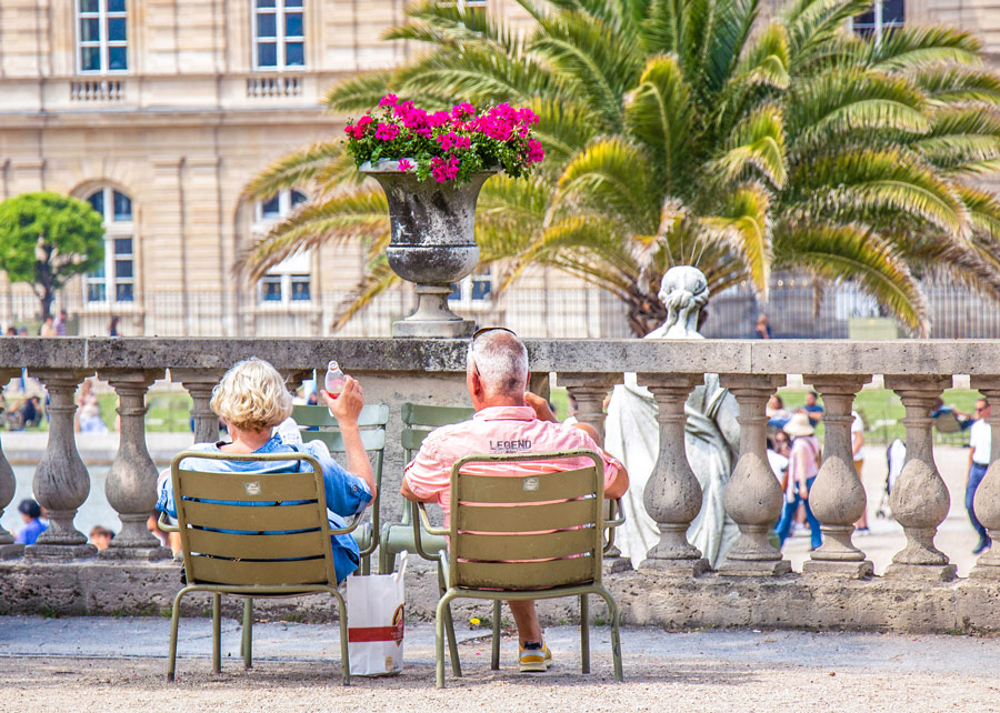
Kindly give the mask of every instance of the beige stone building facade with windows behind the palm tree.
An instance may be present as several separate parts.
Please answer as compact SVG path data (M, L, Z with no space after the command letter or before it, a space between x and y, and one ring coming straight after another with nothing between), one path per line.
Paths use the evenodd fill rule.
M81 333L102 333L111 314L131 334L328 333L362 269L360 252L313 251L258 285L241 284L232 275L237 255L303 198L287 192L257 204L241 191L270 161L339 132L343 118L321 103L333 82L416 51L378 39L401 21L403 2L0 3L0 197L64 192L106 217L103 270L63 295ZM957 23L1000 51L1000 11L988 0L902 3L886 0L889 14ZM512 0L489 0L487 11L528 22ZM533 292L541 288L543 300ZM553 297L557 288L563 293ZM473 278L457 302L496 310L486 307L488 289L488 275ZM383 300L342 333L388 333L407 301ZM504 301L530 305L522 327L552 337L607 334L620 319L610 302L547 274L529 277ZM0 323L22 321L36 305L27 287L0 275ZM576 317L561 327L531 322L567 310Z

